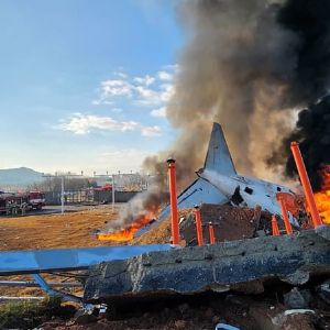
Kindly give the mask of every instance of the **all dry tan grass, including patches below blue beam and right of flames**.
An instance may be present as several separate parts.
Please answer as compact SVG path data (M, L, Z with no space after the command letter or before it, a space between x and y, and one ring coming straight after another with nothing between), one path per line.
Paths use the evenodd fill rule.
M123 242L99 241L97 230L106 228L108 222L118 218L124 205L90 207L86 210L70 211L65 215L40 215L15 218L0 218L0 251L65 249L99 245L119 245ZM186 216L188 211L180 212ZM128 244L167 243L170 238L170 222L166 219L160 227ZM48 282L62 282L64 278L45 274ZM0 276L7 280L33 280L30 275ZM73 279L76 282L75 279ZM80 288L67 292L81 295ZM1 287L0 296L41 296L44 293L35 287Z

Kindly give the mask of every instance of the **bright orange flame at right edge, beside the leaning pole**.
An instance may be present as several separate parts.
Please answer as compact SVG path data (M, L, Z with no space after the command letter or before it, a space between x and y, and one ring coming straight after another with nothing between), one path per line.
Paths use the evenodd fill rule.
M324 223L330 224L330 165L321 169L321 175L323 179L321 190L314 196L320 217Z

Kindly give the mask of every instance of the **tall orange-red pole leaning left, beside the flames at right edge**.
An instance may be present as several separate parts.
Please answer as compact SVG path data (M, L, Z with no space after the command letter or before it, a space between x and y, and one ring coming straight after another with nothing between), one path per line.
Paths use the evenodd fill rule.
M306 201L308 205L308 209L310 211L311 215L311 219L312 219L312 224L314 227L318 227L323 224L322 220L320 218L320 215L318 212L315 199L314 199L314 195L312 195L312 189L311 189L311 185L310 185L310 180L305 167L305 163L300 153L300 148L299 148L299 143L298 142L292 142L292 153L294 155L295 162L296 162L296 166L298 169L298 174L300 177L300 182L304 188L304 194L306 197Z

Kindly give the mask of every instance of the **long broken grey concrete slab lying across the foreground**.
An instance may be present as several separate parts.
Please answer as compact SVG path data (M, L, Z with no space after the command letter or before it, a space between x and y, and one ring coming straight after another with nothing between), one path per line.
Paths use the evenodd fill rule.
M330 227L322 234L306 230L293 235L264 237L215 245L151 252L89 270L85 299L119 301L207 290L226 292L237 285L267 279L290 284L330 274ZM302 278L302 279L301 279Z

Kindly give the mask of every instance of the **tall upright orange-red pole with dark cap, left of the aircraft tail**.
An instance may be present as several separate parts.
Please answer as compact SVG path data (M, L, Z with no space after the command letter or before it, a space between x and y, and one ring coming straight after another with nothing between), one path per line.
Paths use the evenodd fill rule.
M167 160L168 164L168 185L172 218L172 240L174 245L179 245L179 223L177 213L177 196L176 196L176 169L175 160Z

